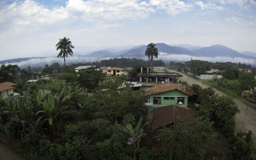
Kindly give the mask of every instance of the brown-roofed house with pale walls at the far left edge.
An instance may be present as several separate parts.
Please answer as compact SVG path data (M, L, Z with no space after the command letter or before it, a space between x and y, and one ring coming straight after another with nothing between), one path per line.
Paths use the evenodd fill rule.
M12 83L12 82L0 83L0 96L2 97L2 99L20 97L19 93L13 92L15 85L16 83Z

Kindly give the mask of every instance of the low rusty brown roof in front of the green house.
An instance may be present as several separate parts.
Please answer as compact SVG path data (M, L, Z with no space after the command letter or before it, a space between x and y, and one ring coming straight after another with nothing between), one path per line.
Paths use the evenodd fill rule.
M153 124L152 129L160 128L164 125L171 124L174 122L174 105L163 106L153 109ZM190 119L196 119L194 113L186 108L178 107L177 120L184 120L186 116Z

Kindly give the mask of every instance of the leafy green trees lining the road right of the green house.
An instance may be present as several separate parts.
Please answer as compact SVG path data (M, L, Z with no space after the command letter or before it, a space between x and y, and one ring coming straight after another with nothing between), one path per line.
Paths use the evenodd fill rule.
M217 96L212 88L202 89L198 84L192 85L197 92L197 102L202 104L199 116L209 118L228 138L230 143L230 157L234 160L250 159L254 151L252 131L236 133L236 114L240 113L236 103L230 96Z

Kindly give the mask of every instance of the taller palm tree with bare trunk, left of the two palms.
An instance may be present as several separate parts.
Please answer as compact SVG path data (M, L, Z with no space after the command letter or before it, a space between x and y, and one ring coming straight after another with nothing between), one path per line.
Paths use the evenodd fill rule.
M74 46L72 46L72 43L70 41L69 38L62 38L60 39L60 41L56 44L56 50L60 50L60 53L58 54L57 58L58 57L61 57L61 58L64 58L64 67L65 67L65 74L66 74L66 60L65 60L65 57L68 56L68 54L70 56L73 55L73 51L71 48L74 48Z

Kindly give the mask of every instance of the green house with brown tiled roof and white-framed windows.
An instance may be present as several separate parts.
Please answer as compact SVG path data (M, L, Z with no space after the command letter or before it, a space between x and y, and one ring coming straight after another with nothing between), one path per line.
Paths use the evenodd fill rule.
M180 87L172 83L160 84L147 88L145 96L150 99L150 109L162 106L174 105L182 102L182 108L187 108L188 97L196 94L193 90L187 87Z

